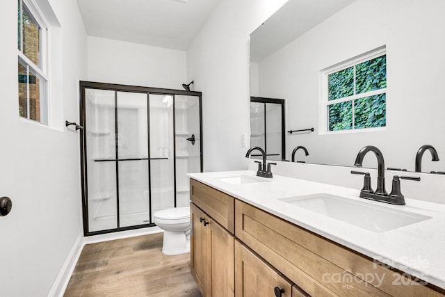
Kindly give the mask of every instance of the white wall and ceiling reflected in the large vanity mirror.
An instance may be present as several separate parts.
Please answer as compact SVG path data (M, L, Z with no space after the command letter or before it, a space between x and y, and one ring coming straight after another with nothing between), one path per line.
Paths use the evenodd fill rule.
M445 171L445 1L289 0L250 35L250 95L286 98L286 159L353 166L359 150L375 145L385 168ZM325 70L375 49L386 55L386 122L378 129L327 131ZM373 154L364 167L376 168Z

